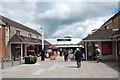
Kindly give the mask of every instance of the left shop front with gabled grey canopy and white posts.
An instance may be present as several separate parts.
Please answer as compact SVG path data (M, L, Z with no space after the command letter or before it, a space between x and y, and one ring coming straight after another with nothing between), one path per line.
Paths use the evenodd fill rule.
M10 56L9 60L18 61L19 64L24 62L25 56L38 56L42 47L41 40L21 35L14 35L8 45L10 45L7 49L7 51L9 51L7 55ZM12 63L12 65L13 64L14 63Z

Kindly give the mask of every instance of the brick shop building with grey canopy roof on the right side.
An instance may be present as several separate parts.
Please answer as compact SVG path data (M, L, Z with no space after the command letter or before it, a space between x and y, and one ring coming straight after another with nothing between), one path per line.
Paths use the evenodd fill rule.
M85 46L86 60L91 59L97 47L101 50L100 54L103 60L118 60L120 52L119 30L120 12L107 20L96 32L82 40Z

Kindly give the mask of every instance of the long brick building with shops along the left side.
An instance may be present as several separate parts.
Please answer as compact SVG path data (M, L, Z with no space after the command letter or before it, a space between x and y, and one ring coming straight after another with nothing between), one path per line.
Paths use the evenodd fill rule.
M36 30L28 28L20 23L0 16L0 57L4 60L11 60L21 54L27 56L28 48L34 47L35 53L42 48L42 36ZM50 43L44 41L45 47Z

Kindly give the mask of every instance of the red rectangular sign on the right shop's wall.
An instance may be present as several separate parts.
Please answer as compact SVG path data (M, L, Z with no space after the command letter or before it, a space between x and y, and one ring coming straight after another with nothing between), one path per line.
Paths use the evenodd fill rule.
M102 54L112 55L112 42L102 42Z

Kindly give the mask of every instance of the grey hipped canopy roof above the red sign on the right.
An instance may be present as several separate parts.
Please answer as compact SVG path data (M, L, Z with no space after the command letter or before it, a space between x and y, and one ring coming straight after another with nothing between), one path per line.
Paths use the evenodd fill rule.
M83 39L83 41L102 41L102 40L111 40L111 35L113 35L116 31L105 29L105 30L97 30L90 36L87 36Z

